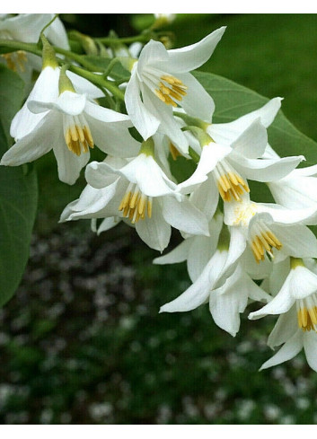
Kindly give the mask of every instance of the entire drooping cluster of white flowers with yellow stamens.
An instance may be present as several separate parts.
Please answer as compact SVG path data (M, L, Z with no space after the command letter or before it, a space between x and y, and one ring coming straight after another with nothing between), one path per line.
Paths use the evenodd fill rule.
M131 75L120 90L128 114L101 107L100 88L44 57L1 164L31 162L53 149L59 179L68 184L85 167L87 186L65 207L62 222L91 219L101 233L122 220L161 252L172 227L181 232L181 244L154 263L187 261L192 284L160 312L209 303L216 325L235 336L248 304L264 303L249 318L279 314L268 344L283 347L262 369L304 347L317 371L317 240L307 227L317 224L317 165L295 169L303 156L281 158L269 145L267 128L281 98L233 122L212 123L215 103L190 72L212 55L224 31L170 50L150 40L137 58L127 57ZM94 145L107 154L103 162L89 162ZM173 177L170 155L196 160L188 180ZM267 184L276 203L252 201L248 180Z

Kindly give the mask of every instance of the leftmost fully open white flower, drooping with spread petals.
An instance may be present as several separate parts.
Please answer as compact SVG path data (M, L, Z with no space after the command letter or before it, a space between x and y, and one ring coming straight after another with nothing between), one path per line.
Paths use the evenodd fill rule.
M94 144L107 154L136 154L138 144L128 133L128 116L88 101L85 94L66 91L56 100L29 101L28 107L44 112L44 117L4 154L1 164L32 162L53 149L59 179L74 184Z

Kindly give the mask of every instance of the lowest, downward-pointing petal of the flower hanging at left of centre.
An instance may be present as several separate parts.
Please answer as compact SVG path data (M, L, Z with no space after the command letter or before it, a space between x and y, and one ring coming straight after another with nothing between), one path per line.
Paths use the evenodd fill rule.
M162 252L168 246L171 225L164 221L157 199L153 200L152 217L145 217L136 223L136 233L151 249Z

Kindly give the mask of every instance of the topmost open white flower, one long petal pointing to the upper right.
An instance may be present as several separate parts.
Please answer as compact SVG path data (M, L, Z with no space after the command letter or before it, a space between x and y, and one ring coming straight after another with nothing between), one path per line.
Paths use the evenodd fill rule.
M159 128L186 153L188 142L172 108L181 105L189 114L209 119L214 101L189 71L204 64L212 55L225 27L185 48L166 50L151 40L135 62L125 95L128 115L144 139Z

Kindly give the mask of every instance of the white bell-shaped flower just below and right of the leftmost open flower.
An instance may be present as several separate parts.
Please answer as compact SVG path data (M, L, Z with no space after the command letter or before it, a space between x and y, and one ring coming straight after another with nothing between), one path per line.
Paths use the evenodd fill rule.
M62 221L121 217L135 225L136 233L149 247L160 251L170 241L171 226L185 233L208 235L206 216L175 192L176 184L155 162L152 138L124 164L113 166L108 158L90 163L85 177L92 189L86 188L77 202L66 206Z

